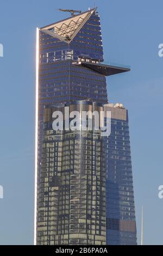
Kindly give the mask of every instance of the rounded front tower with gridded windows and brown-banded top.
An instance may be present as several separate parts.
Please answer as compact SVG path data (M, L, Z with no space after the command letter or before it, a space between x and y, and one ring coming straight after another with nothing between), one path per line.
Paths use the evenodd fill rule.
M52 128L52 114L100 111L102 104L74 101L46 107L43 141L37 243L39 245L105 245L105 163L100 130ZM83 118L81 117L81 121ZM71 121L71 119L70 119Z

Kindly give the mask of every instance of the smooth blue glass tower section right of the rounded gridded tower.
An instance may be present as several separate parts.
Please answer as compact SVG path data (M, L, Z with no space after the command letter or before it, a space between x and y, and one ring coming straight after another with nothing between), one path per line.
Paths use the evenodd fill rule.
M128 111L122 104L105 105L111 134L104 138L106 167L106 244L136 245L136 220ZM107 115L107 114L106 114Z

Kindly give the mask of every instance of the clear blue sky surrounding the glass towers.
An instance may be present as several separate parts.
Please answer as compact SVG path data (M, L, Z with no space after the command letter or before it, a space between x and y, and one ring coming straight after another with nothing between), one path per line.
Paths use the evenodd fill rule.
M34 220L35 29L67 17L57 8L98 6L106 62L131 65L107 79L110 102L129 109L138 241L163 244L163 2L1 0L0 244L32 244Z

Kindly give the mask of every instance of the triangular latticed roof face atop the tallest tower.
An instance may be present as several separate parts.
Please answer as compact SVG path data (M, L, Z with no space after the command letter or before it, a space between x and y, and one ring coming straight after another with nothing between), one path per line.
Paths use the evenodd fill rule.
M96 9L97 8L93 8L82 14L74 15L73 17L65 20L55 22L51 25L40 28L40 30L69 44Z

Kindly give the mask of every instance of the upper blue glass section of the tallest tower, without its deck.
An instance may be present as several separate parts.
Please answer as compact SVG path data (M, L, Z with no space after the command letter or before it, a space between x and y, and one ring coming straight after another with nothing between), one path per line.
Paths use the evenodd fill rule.
M95 9L40 29L40 114L52 103L108 102L105 75L79 64L82 60L103 61Z

